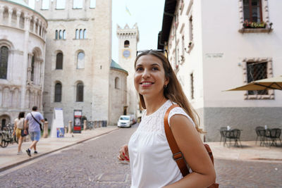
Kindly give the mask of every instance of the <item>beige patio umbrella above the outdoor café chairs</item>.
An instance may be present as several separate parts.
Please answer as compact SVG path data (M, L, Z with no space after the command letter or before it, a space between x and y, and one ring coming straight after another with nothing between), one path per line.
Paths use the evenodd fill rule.
M262 80L255 80L248 84L226 91L241 91L241 90L264 90L264 89L279 89L282 90L282 75L278 77L269 77Z

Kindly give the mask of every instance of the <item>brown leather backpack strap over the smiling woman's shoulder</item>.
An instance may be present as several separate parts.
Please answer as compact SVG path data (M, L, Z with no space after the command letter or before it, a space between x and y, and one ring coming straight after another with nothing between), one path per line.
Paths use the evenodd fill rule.
M170 111L175 108L179 107L177 104L171 105L166 113L164 114L164 131L166 132L166 139L168 141L168 145L171 148L171 151L173 153L173 160L176 161L178 168L180 169L180 172L182 173L183 177L189 174L189 170L187 168L187 165L185 163L185 159L183 156L183 153L178 148L178 145L176 143L176 139L173 137L173 133L171 132L171 127L168 125L168 114Z

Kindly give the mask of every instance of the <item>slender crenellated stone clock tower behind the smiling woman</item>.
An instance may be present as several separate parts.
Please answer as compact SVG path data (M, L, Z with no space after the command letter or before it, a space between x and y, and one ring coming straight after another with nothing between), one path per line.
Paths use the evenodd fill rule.
M118 63L128 72L127 77L127 106L125 109L128 115L137 115L138 100L137 92L135 91L133 76L134 76L134 61L136 58L137 42L139 42L139 31L137 23L133 28L126 24L124 28L117 25L116 34L118 36Z

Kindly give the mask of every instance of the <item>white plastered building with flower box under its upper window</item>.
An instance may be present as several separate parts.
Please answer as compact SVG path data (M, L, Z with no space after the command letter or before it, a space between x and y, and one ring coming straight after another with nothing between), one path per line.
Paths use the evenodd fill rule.
M281 91L223 92L252 80L282 75L282 1L166 0L159 49L168 58L207 141L219 141L219 128L281 128ZM247 20L247 21L246 21Z

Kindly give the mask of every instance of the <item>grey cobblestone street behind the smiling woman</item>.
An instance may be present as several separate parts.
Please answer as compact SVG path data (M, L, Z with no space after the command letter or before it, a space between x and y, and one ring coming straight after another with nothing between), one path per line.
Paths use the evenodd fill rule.
M136 126L75 145L10 173L1 187L130 187L130 167L116 158ZM39 142L40 144L40 142ZM282 187L281 161L216 159L220 187Z

